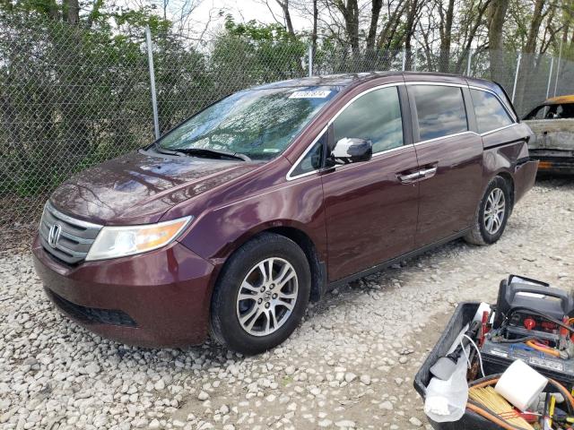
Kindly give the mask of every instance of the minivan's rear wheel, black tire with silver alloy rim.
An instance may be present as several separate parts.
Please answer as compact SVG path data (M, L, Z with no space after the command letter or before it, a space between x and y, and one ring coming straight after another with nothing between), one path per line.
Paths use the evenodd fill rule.
M478 204L473 226L466 234L465 241L474 245L491 245L498 241L512 211L511 198L509 183L502 177L495 176ZM500 208L500 202L504 205L503 209ZM491 209L493 203L496 203L494 210Z

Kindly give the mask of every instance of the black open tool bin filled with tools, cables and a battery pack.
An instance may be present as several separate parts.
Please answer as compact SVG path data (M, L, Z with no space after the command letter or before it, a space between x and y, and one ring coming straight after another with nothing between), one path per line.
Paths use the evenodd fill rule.
M478 329L477 326L481 328ZM470 340L467 342L466 352L464 338ZM472 358L474 352L476 354ZM459 358L454 359L453 356ZM448 372L447 376L443 374L455 366L454 363L458 363L456 366L460 367L460 359L465 360L465 368L466 361L470 365L466 369L466 378L464 375L460 377L463 378L463 383L466 379L469 387L472 387L470 391L473 400L470 400L469 391L466 408L460 409L457 406L458 412L453 412L450 421L436 422L431 417L443 419L446 414L440 412L441 409L436 403L443 394L438 394L442 391L437 391L435 380L447 382L447 385L440 386L450 386ZM517 371L517 368L520 370ZM478 376L481 369L485 375L482 379ZM529 377L525 377L524 372L527 372ZM507 377L510 374L513 376ZM431 380L432 388L429 386ZM537 381L537 388L531 392L534 381ZM517 388L519 386L521 388ZM570 395L570 391L574 393L573 386L574 296L570 291L551 288L544 282L515 275L510 275L508 280L500 282L499 297L495 305L465 302L457 306L445 331L414 377L415 390L423 400L429 397L427 401L429 405L433 405L429 406L427 412L431 416L428 416L431 426L445 430L523 428L509 426L509 421L505 421L515 417L522 420L527 428L538 428L538 425L544 425L544 428L570 428L571 425L564 423L574 423L574 398ZM501 394L504 390L507 392ZM444 396L460 399L448 394L458 391L444 392ZM501 395L506 399L502 399ZM557 400L560 395L562 400ZM525 396L526 400L522 401ZM493 412L494 409L480 406L488 405L492 399L497 398L508 405L508 408L502 406L499 415ZM514 403L510 404L506 400ZM544 408L540 406L541 401ZM555 404L558 406L554 407ZM425 411L426 407L425 403ZM460 418L457 419L458 417ZM488 419L489 417L491 419ZM452 421L453 419L457 421ZM530 419L528 423L535 423L536 426L528 426L525 419ZM555 420L554 426L552 419Z

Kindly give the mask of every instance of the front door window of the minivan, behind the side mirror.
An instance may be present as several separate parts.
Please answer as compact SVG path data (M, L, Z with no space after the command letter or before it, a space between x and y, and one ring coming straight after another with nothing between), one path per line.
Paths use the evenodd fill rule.
M333 123L335 142L370 140L373 153L403 145L403 121L396 87L373 90L346 107Z

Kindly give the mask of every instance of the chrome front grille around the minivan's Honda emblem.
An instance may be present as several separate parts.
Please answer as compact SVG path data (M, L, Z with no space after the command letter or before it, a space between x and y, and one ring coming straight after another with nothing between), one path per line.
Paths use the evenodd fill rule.
M56 244L48 241L50 228L58 224L60 234ZM90 251L91 244L98 236L102 226L81 219L74 219L57 211L50 202L46 203L42 220L39 224L40 243L44 249L58 260L67 264L83 262Z

